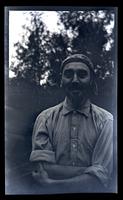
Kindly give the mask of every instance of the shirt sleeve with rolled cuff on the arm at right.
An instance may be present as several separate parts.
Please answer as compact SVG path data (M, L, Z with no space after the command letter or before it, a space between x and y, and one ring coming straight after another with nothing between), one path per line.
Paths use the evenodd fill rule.
M105 187L111 178L113 169L113 118L108 119L96 142L92 165L84 173L95 175Z

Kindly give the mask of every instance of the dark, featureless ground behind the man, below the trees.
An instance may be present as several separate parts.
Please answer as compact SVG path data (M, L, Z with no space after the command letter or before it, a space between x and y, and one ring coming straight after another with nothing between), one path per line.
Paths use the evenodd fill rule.
M32 164L29 162L33 125L42 110L58 104L65 95L59 88L43 89L25 83L21 86L8 85L6 90L6 191L13 194L35 193L31 178ZM110 95L104 92L92 100L111 112L116 123L115 88Z

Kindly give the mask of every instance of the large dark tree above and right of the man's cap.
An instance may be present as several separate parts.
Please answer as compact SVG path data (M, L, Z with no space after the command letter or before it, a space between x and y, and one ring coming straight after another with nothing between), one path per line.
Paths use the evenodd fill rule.
M71 48L73 52L87 54L95 65L98 77L112 76L114 61L114 29L108 34L106 27L113 21L114 10L65 11L59 12L60 19L73 34ZM110 49L106 50L107 42ZM108 73L107 73L108 72Z

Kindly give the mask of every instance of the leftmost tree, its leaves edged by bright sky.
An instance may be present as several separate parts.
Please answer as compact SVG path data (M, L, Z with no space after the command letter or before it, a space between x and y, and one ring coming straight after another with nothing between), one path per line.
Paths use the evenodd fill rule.
M50 35L44 23L40 20L41 14L30 12L30 15L30 27L23 26L26 30L26 34L23 35L23 41L14 45L18 62L17 64L12 62L10 69L15 72L17 80L26 80L40 85L41 76L47 70L48 59L45 45L47 38L50 40Z

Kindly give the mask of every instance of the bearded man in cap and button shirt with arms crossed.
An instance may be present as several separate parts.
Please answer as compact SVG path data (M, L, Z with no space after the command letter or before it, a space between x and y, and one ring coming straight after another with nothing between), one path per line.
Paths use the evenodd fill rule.
M106 191L113 165L113 116L92 104L94 67L82 54L61 65L64 102L36 119L30 160L33 177L60 192Z

